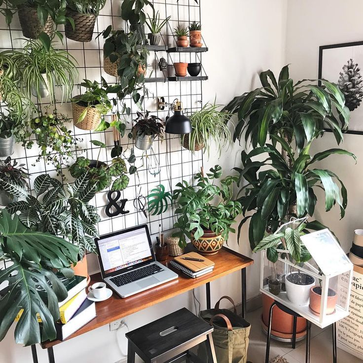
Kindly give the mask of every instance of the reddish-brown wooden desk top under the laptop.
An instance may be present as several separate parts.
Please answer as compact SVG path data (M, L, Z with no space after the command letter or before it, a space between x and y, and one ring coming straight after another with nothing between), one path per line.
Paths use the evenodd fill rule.
M173 258L174 257L169 257L170 260ZM214 270L211 273L197 277L196 279L185 276L180 271L178 272L167 264L173 271L178 272L179 278L177 280L170 281L166 284L156 286L123 299L113 292L108 300L96 302L97 317L84 327L81 327L66 340L107 325L115 320L122 319L186 291L193 290L199 286L217 280L222 276L246 268L254 263L253 259L225 247L223 247L218 254L208 256L208 258L215 262ZM101 274L92 275L90 285L99 281L102 281ZM41 346L42 348L49 348L59 343L62 343L62 341L46 341L43 342Z

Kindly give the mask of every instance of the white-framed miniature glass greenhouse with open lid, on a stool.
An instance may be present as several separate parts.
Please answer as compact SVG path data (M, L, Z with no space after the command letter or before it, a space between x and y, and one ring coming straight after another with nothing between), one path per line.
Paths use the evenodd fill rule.
M292 229L297 226L289 223ZM278 260L272 263L262 251L260 291L327 327L349 315L353 264L328 229L301 236L301 242L312 256L303 263L287 250L277 250Z

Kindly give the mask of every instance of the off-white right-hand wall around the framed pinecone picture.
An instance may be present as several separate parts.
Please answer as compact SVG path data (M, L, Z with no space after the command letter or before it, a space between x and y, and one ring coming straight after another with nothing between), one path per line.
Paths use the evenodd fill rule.
M320 45L362 40L362 12L363 2L359 0L349 1L349 4L339 0L289 0L286 55L294 80L318 77ZM357 165L353 159L342 155L330 156L319 164L340 176L348 189L348 207L342 220L339 220L339 208L325 213L324 196L316 212L316 218L336 233L346 252L352 245L354 229L363 226L362 142L363 136L345 135L344 143L339 146L357 155ZM331 133L326 133L315 142L312 152L332 147L337 147L335 139Z

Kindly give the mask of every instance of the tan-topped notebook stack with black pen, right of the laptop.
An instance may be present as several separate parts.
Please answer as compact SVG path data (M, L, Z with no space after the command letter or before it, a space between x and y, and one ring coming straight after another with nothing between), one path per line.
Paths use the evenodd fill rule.
M197 254L196 252L189 252L175 257L169 262L171 266L177 270L182 271L186 276L195 279L196 277L203 276L214 269L214 262L210 259Z

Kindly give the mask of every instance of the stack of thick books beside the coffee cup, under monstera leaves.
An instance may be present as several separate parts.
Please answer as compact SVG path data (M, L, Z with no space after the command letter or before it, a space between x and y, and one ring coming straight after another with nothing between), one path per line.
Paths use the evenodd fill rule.
M67 298L58 303L61 318L55 323L56 339L64 340L96 317L96 304L87 299L86 277L73 276L73 278L67 279L64 276L58 276L58 278L68 291ZM39 295L47 304L45 291L44 294L39 291ZM19 320L22 314L23 309L20 310L16 320ZM38 316L38 321L41 323L40 316Z

